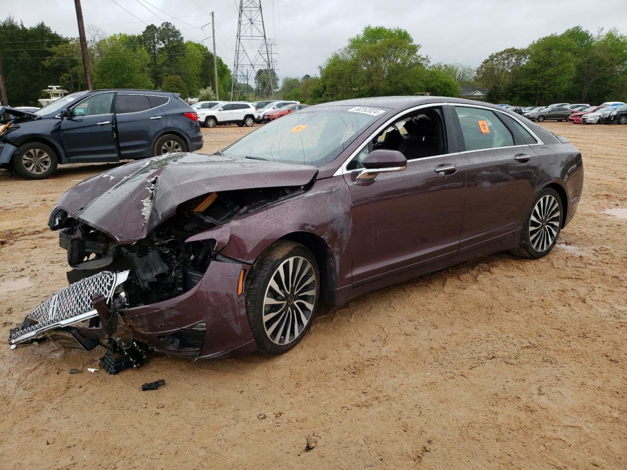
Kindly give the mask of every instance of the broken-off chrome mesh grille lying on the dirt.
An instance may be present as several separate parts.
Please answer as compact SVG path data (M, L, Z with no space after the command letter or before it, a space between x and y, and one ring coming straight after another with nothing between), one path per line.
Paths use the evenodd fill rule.
M102 271L61 289L24 318L23 323L9 332L11 345L32 340L55 328L73 325L98 316L92 299L102 295L109 303L113 293L127 279L129 271Z

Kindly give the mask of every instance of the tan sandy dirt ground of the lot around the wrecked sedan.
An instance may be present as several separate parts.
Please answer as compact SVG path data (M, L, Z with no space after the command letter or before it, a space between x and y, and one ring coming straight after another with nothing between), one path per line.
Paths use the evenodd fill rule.
M111 376L87 372L100 348L5 343L0 467L626 469L627 126L545 126L585 167L549 256L494 254L363 296L274 358L152 355ZM213 151L248 130L204 132ZM5 335L65 285L46 227L56 200L109 167L0 172ZM140 390L157 379L166 386Z

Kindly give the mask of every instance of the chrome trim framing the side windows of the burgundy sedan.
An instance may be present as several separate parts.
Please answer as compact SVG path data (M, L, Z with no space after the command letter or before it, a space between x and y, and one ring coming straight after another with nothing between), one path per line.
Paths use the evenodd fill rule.
M462 108L480 108L480 109L485 109L488 111L492 111L492 112L498 112L498 113L502 113L504 115L509 116L510 118L513 118L514 120L516 120L520 125L522 125L522 127L524 127L527 132L529 132L532 137L535 138L535 140L537 141L536 144L523 144L523 145L507 145L505 147L490 147L489 149L478 149L478 150L463 150L463 152L452 152L450 154L443 154L443 155L432 155L431 157L422 157L419 159L410 159L407 160L407 162L417 162L418 160L429 160L429 159L439 159L441 157L451 157L454 155L461 155L461 154L470 154L471 152L482 152L483 150L500 150L500 149L515 149L517 147L533 147L534 145L544 145L544 142L542 142L542 139L540 137L538 137L536 135L536 133L531 130L529 127L527 127L527 125L525 125L524 122L522 122L517 116L512 115L508 112L505 112L503 110L499 110L499 109L494 109L494 108L490 108L487 106L483 106L483 105L475 105L473 104L466 104L466 103L428 103L428 104L424 104L424 105L418 105L418 106L414 106L413 108L408 108L402 112L396 113L393 117L389 118L386 122L384 122L381 126L379 126L374 132L371 133L371 135L364 140L364 142L359 145L359 147L357 147L356 150L354 150L349 157L344 160L344 163L342 163L342 165L340 165L340 167L335 170L333 176L339 176L339 175L346 175L346 174L350 174L352 172L356 172L356 171L362 171L362 168L357 168L354 170L347 170L346 167L347 165L350 163L350 161L352 159L354 159L359 152L361 152L362 150L364 150L364 147L366 147L366 145L369 145L370 142L372 141L372 139L374 137L376 137L377 135L379 135L379 133L381 133L382 130L384 130L385 128L389 127L389 125L391 125L391 123L393 123L394 121L398 120L398 118L400 116L406 115L407 113L411 113L414 111L418 111L424 108L434 108L434 107L440 107L440 106L456 106L456 107L462 107Z

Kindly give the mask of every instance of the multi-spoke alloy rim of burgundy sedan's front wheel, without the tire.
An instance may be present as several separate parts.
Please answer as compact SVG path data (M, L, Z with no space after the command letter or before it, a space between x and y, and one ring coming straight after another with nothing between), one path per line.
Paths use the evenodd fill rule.
M314 313L316 291L307 259L293 256L278 266L263 298L263 327L271 342L285 345L298 338Z

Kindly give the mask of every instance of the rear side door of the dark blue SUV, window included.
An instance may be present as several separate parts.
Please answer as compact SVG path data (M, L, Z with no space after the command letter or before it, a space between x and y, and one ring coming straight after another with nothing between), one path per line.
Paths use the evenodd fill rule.
M120 158L152 157L155 138L166 129L167 118L160 105L169 98L118 93L115 97L115 127Z

